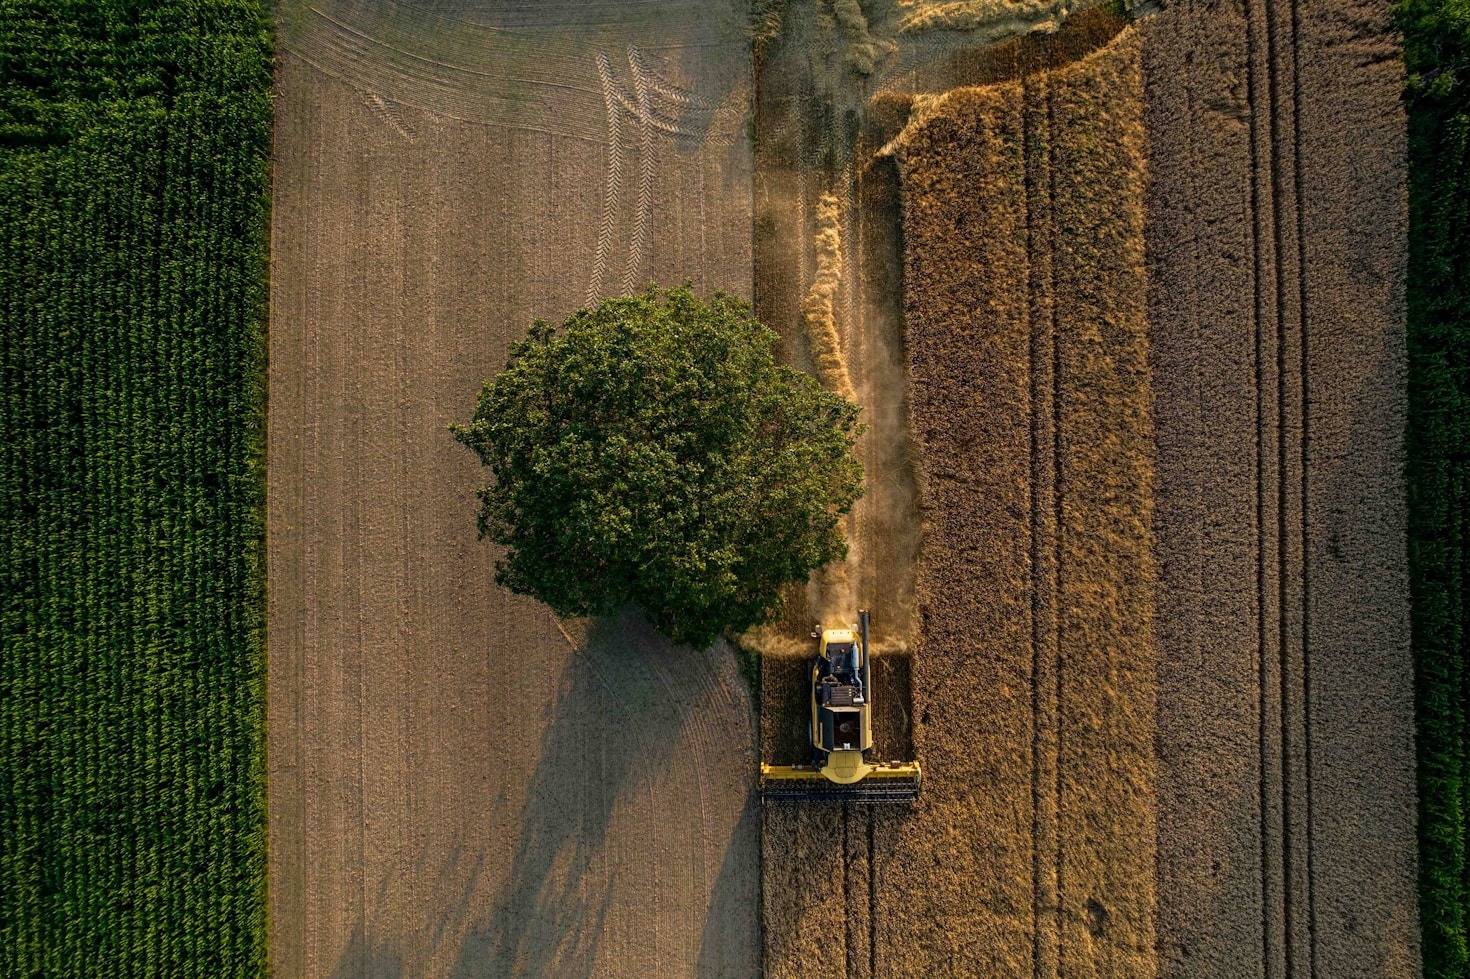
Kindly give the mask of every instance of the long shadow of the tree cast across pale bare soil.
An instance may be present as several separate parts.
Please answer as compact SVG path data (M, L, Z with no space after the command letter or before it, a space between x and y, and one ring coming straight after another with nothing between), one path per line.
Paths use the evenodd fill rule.
M704 688L695 673L707 660L672 647L637 613L589 623L541 738L509 879L491 901L488 926L466 936L451 976L594 975L609 917L647 900L644 878L660 860L641 853L645 836L623 828L635 845L609 848L612 825L698 817L660 804L670 801L670 781L698 778L675 770L689 759L670 761L691 736L686 722Z

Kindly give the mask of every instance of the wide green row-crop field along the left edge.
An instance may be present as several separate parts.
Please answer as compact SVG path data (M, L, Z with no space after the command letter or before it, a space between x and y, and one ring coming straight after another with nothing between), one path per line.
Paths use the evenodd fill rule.
M0 975L265 970L265 0L0 0Z

